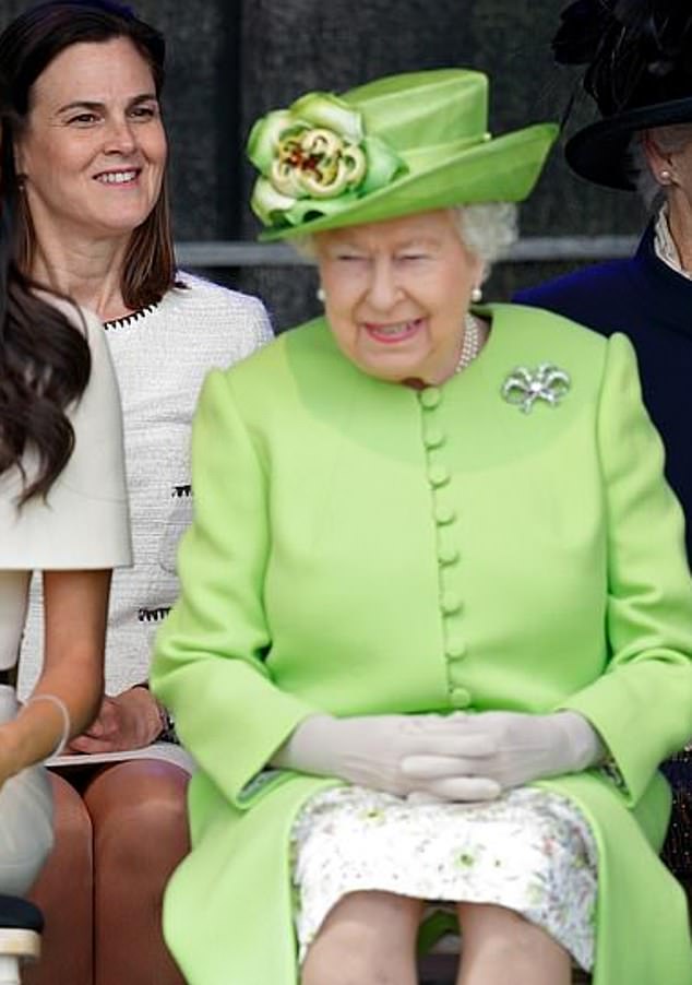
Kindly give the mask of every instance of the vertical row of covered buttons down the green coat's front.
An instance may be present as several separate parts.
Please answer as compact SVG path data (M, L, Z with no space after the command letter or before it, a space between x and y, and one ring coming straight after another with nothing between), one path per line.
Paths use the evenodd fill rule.
M466 644L462 636L461 619L464 603L461 593L452 585L454 575L458 573L456 566L461 551L455 537L457 511L449 492L452 474L444 463L443 449L446 443L444 431L436 423L436 408L442 402L442 391L429 387L418 394L423 408L422 440L427 450L427 474L432 499L432 514L438 527L438 578L440 591L440 612L444 626L444 652L448 661L449 701L453 708L468 708L472 698L463 687L463 658L466 656Z

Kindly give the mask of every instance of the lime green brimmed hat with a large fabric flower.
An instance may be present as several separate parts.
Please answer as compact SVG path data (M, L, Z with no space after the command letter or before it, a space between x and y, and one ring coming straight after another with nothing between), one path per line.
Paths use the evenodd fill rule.
M286 239L472 202L518 202L558 128L492 138L488 79L466 69L390 75L342 96L308 93L252 128L251 205Z

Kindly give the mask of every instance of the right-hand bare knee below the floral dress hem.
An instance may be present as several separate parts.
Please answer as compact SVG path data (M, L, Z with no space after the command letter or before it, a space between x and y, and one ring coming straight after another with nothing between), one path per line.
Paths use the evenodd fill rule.
M570 985L570 956L545 930L504 906L460 903L456 985Z

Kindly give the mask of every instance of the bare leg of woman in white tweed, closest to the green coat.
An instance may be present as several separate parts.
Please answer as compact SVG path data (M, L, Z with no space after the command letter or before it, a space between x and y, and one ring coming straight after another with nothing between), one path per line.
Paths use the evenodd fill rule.
M94 827L94 985L182 985L162 935L162 898L189 851L184 770L130 760L84 792Z

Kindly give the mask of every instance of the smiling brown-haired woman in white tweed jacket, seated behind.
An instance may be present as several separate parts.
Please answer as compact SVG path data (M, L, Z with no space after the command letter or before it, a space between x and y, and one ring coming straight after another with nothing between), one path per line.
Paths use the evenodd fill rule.
M177 594L200 383L271 333L259 301L176 270L158 103L164 55L160 34L110 0L44 3L0 35L3 95L16 121L3 168L5 158L15 163L17 256L35 280L105 323L122 395L134 547L134 568L111 590L106 697L71 744L81 755L53 769L56 850L34 889L47 929L33 985L182 981L159 911L188 846L190 760L157 743L170 723L146 687L150 642ZM34 604L22 648L28 676L40 663L36 614Z

